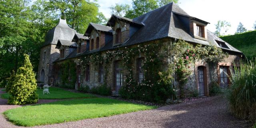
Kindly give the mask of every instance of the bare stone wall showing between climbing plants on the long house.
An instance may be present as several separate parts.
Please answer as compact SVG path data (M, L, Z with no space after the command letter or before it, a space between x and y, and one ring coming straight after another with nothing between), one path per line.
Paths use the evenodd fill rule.
M152 42L148 42L148 44L151 43L158 43L158 42L164 42L163 48L165 46L166 43L170 43L171 40L170 39L162 39L162 40L155 40ZM129 46L129 48L132 47L136 47L137 45L134 46ZM160 50L159 52L164 52L163 50ZM105 55L106 52L102 52L102 56ZM133 70L133 76L134 79L138 79L138 68L137 68L137 59L138 58L142 58L145 57L144 54L139 54L138 56L136 56L132 62L132 70ZM78 61L78 59L73 59L74 61ZM116 60L121 60L121 58L118 57L114 57L112 62L110 62L110 64L104 65L104 73L108 72L107 74L104 74L104 83L106 83L108 86L111 87L112 90L112 94L116 95L116 87L115 87L115 77L114 77L114 73L115 73L115 62ZM195 90L199 89L199 85L198 85L198 67L202 66L204 68L204 94L206 96L209 95L209 90L210 90L210 83L213 81L218 82L219 80L219 66L220 65L225 65L225 66L230 66L232 68L232 66L234 65L233 62L238 62L240 60L240 56L237 56L235 54L230 54L228 56L228 58L225 58L223 62L220 62L218 64L209 64L207 62L204 62L203 60L197 60L195 62L195 64L190 64L190 69L192 70L190 76L188 77L188 82L185 86L185 90L186 90L186 95L193 93ZM60 63L60 62L59 62ZM77 63L78 65L80 65L79 63ZM99 65L92 65L90 64L90 81L86 82L85 81L85 65L81 65L81 86L90 86L90 88L94 87L94 86L98 86L98 85L102 85L102 83L99 82L99 69L98 69ZM166 67L166 65L164 66ZM123 70L123 74L128 74L129 72L127 70ZM125 75L123 78L123 82L125 82ZM125 83L124 83L125 84ZM176 86L176 89L178 89L178 83L175 81L174 85Z

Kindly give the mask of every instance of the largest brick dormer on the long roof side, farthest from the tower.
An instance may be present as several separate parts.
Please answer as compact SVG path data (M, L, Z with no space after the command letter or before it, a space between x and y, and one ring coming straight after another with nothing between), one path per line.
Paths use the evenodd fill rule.
M121 45L128 40L144 23L112 14L107 26L113 28L113 46Z

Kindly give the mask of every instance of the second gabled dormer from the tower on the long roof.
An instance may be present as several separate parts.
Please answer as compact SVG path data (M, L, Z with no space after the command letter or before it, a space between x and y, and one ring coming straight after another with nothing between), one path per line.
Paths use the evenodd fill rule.
M90 41L87 36L84 36L83 34L76 33L74 35L74 38L72 39L73 42L76 42L77 48L76 48L76 53L81 54L85 50L87 50L87 43Z

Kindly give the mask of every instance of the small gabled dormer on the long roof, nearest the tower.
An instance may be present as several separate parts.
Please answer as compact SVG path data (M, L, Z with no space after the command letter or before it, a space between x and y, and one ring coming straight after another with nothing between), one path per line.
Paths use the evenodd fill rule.
M66 58L71 52L76 50L76 43L71 40L59 39L56 48L60 50L60 59Z

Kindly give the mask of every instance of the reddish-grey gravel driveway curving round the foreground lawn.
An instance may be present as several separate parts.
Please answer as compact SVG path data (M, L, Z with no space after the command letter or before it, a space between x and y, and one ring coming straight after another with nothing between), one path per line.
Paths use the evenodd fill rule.
M0 112L19 106L5 105L0 99ZM49 117L50 118L50 117ZM17 127L0 116L0 127ZM116 116L65 122L36 128L243 128L243 121L232 117L222 96L190 100L154 110ZM248 127L248 126L247 126Z

